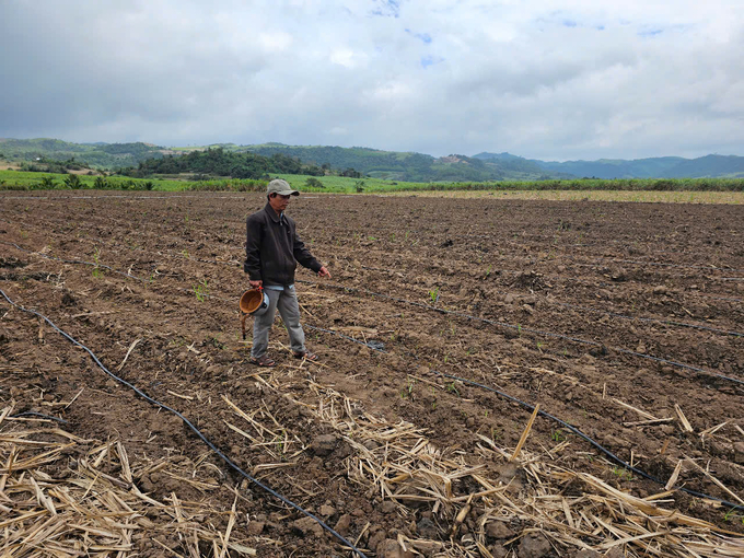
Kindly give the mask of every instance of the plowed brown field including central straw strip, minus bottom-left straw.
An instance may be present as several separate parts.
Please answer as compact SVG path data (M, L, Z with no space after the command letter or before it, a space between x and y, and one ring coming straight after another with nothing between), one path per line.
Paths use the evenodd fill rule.
M302 195L288 212L333 274L298 272L321 359L293 359L277 318L267 370L248 362L237 310L245 218L263 196L0 200L13 302L368 556L742 551L744 511L676 490L744 499L740 206ZM193 464L211 488L156 472L135 483L166 504L235 501L231 538L258 556L350 556L36 315L0 298L0 407L120 441L132 461ZM531 408L451 376L539 404L663 484L544 416L509 462ZM228 515L194 513L224 532ZM140 533L131 556L189 556L189 536Z

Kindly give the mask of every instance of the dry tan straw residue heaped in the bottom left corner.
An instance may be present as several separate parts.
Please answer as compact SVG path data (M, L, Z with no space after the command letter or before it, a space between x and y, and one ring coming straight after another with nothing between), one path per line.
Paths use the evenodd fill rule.
M155 472L197 493L219 488L194 463L135 460L118 440L83 440L49 423L0 423L0 556L125 557L153 545L168 556L256 555L235 537L234 508L225 514L175 492L159 501L138 488ZM204 521L220 515L226 530Z

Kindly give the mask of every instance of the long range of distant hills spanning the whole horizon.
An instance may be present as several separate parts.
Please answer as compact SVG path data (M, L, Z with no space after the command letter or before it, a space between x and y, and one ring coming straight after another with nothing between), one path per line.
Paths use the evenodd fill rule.
M0 159L33 161L35 158L88 163L97 168L137 166L149 159L184 155L207 149L264 156L287 155L304 166L335 171L353 168L363 175L390 181L483 182L538 181L549 178L698 178L706 176L744 177L744 156L706 155L698 159L662 156L650 159L601 159L598 161L540 161L511 153L483 152L473 156L451 154L434 158L411 151L382 151L370 148L332 146L286 146L260 143L236 146L214 143L198 148L164 149L151 143L72 143L56 139L0 139Z

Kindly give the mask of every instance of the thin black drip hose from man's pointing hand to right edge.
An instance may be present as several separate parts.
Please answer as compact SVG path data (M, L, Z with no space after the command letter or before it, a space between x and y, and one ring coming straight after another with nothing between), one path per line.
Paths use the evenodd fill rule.
M495 319L488 319L488 318L485 318L485 317L472 316L469 314L465 314L463 312L456 312L456 311L453 311L453 310L438 309L437 306L431 306L431 305L425 304L422 302L414 302L414 301L409 301L409 300L405 300L405 299L398 299L397 297L391 297L390 294L382 294L380 292L370 291L368 289L354 289L354 288L351 288L351 287L345 287L342 284L335 284L335 283L322 284L322 283L318 283L318 282L315 282L315 281L306 281L306 280L301 280L301 279L298 279L297 282L301 282L301 283L305 283L305 284L313 284L313 286L322 287L322 288L340 289L340 290L344 290L344 291L347 291L347 292L352 292L352 293L371 294L373 297L380 297L382 299L387 299L387 300L392 300L392 301L395 301L395 302L400 302L403 304L409 304L411 306L418 306L418 307L421 307L421 309L431 310L433 312L439 312L440 314L450 314L450 315L457 316L457 317L464 317L466 319L472 319L472 321L475 321L475 322L483 322L485 324L490 324L490 325L495 325L495 326L499 326L499 327L505 327L505 328L509 328L509 329L514 329L514 330L520 332L520 333L526 332L526 333L530 333L530 334L533 334L533 335L539 335L539 336L544 336L544 337L555 337L557 339L566 339L566 340L573 341L573 342L577 342L577 344L590 345L592 347L597 347L602 350L606 350L606 347L603 344L597 342L597 341L590 341L588 339L581 339L581 338L578 338L578 337L570 337L568 335L562 335L562 334L554 334L551 332L542 332L539 329L533 329L531 327L515 326L515 325L512 325L512 324L507 324L505 322L497 322ZM663 364L670 364L672 367L677 367L677 368L685 369L685 370L691 370L691 371L697 372L698 374L701 374L704 376L720 377L722 380L726 380L726 381L733 382L735 384L744 385L744 381L739 380L736 377L730 377L730 376L725 376L723 374L716 374L713 372L709 372L709 371L704 370L701 368L693 367L690 364L685 364L684 362L676 362L674 360L662 359L661 357L653 357L651 354L644 354L642 352L636 352L636 351L631 351L629 349L613 348L612 350L620 352L623 354L629 354L631 357L638 357L638 358L641 358L641 359L653 360L654 362L660 362L660 363L663 363Z

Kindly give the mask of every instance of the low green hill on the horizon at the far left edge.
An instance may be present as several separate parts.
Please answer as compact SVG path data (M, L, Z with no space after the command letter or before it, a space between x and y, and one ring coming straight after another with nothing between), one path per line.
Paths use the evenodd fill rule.
M97 168L114 168L162 156L163 148L142 142L72 143L49 138L0 139L0 159L9 161L33 161L36 158L67 161L74 158Z

